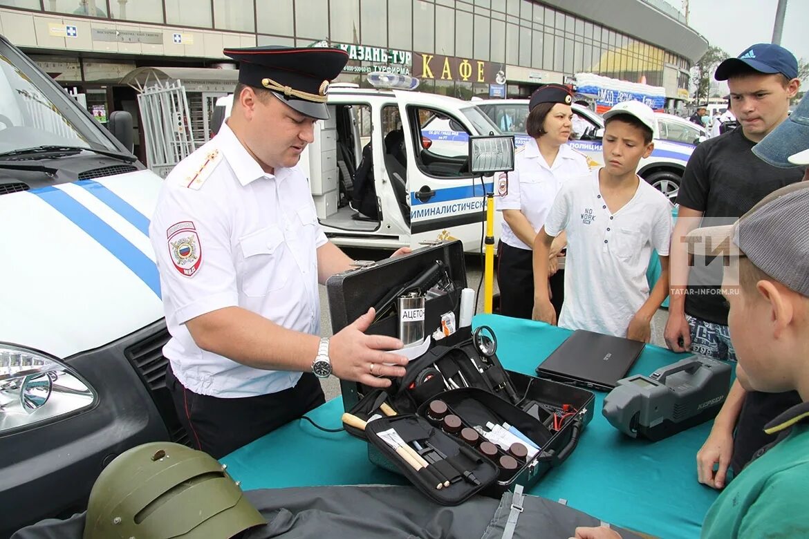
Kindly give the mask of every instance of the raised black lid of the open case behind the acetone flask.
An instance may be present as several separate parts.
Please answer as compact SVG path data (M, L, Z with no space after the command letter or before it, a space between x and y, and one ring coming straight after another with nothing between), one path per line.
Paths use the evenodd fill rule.
M421 247L409 255L379 260L371 266L329 277L326 293L332 333L341 331L389 294L429 271L436 260L446 268L455 288L466 287L464 244L458 240ZM368 333L385 331L379 326L371 326Z

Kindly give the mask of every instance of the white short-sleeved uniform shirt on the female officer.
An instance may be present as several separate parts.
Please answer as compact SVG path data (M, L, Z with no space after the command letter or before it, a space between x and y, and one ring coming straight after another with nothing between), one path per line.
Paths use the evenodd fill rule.
M514 171L508 173L508 192L495 198L496 207L498 211L519 209L537 233L545 224L545 216L562 183L585 175L589 170L587 158L566 144L559 147L553 165L548 166L536 141L530 139L516 151ZM533 248L519 239L506 221L502 224L500 240L519 249L531 251Z

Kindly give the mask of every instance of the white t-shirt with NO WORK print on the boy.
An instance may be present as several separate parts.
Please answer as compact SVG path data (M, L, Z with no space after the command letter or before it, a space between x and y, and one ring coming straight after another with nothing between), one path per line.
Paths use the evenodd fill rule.
M612 214L601 197L598 173L565 182L545 222L551 236L567 231L559 326L625 337L649 297L646 269L652 249L668 255L671 203L640 179L632 200Z

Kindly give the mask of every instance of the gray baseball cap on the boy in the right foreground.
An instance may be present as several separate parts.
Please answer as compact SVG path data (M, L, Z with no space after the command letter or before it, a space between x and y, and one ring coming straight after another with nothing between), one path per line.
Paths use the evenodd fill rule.
M694 229L692 255L743 255L774 280L809 297L809 182L765 196L733 225Z

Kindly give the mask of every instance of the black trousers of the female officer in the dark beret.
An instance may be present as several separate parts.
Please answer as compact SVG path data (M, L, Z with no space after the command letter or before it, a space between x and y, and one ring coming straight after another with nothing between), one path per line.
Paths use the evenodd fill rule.
M551 304L557 318L565 301L565 271L550 278ZM531 319L534 310L533 251L498 243L498 286L500 314L513 318Z

